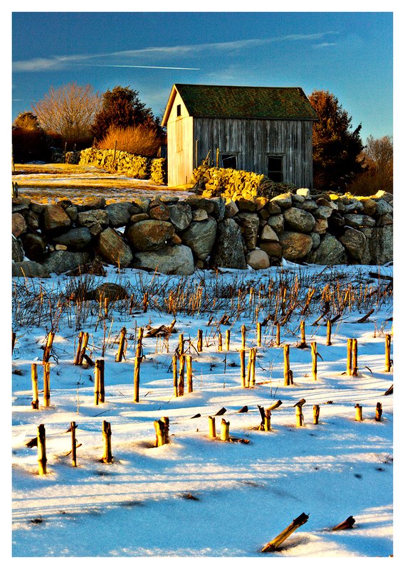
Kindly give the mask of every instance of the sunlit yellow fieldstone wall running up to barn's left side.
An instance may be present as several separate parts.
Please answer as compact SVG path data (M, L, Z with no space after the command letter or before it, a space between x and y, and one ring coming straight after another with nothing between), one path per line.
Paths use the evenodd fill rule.
M167 179L166 159L135 156L121 150L88 148L80 151L80 166L96 166L116 174L140 180L151 179L154 184L164 184Z

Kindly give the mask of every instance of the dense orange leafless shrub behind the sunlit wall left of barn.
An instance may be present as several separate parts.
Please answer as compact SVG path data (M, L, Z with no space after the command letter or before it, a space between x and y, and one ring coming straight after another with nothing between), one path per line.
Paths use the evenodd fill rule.
M115 148L136 156L157 156L162 139L153 128L139 125L136 127L110 127L105 137L98 143L98 148Z

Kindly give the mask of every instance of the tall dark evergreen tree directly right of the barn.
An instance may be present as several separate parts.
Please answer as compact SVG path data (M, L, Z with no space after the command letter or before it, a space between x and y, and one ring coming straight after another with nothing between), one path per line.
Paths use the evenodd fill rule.
M363 171L359 159L364 148L359 134L362 125L351 130L352 117L329 91L314 90L309 100L319 117L312 130L314 186L320 190L346 191Z

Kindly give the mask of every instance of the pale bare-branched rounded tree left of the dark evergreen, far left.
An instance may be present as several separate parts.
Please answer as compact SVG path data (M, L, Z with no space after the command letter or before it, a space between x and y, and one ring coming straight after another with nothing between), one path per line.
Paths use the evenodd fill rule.
M73 82L58 89L51 87L33 110L44 131L59 134L68 144L80 144L91 137L90 127L100 105L101 97L91 85Z

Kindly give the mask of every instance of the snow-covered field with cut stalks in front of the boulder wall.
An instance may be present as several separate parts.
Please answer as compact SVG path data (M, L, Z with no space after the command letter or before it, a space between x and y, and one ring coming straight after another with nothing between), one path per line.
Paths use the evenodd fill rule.
M72 293L78 278L15 280L14 558L388 558L393 553L393 405L392 395L384 393L393 383L392 371L385 371L392 296L383 277L391 275L392 267L286 263L260 272L201 271L185 280L108 267L106 277L92 277L92 285L115 282L134 297L131 311L130 299L110 302L107 316L96 301L63 304L63 294ZM283 283L284 307L277 301ZM305 309L312 288L315 294ZM142 310L144 292L149 293L147 312ZM330 312L320 319L325 302ZM338 316L342 308L327 346L327 317ZM258 347L256 321L267 317ZM169 326L173 319L168 339L142 340L140 402L134 403L137 332ZM275 319L281 323L280 346L275 345ZM298 347L301 320L304 349ZM47 408L41 346L52 324L56 335ZM246 364L249 349L257 348L256 384L250 388L242 387L240 376L243 324ZM127 346L125 358L117 362L123 326ZM201 352L196 350L199 329ZM231 332L228 351L226 330ZM86 361L73 365L80 331L90 334L90 361L105 361L105 403L95 405L94 368ZM179 334L192 357L193 391L185 387L184 396L175 397L172 355ZM346 373L348 338L357 339L357 376ZM293 385L287 386L285 344L290 345L293 371ZM31 407L32 363L38 363L38 410ZM296 427L294 405L302 398L304 424ZM271 412L271 430L260 430L258 405L268 408L278 400L282 404ZM382 403L381 422L375 420L377 402ZM362 405L361 422L355 420L356 404ZM318 425L312 421L313 405L320 405ZM248 410L239 412L244 406ZM222 408L226 412L216 416L214 440L208 418ZM162 417L169 418L169 444L156 447L154 421ZM229 422L231 442L219 439L222 419ZM103 420L111 425L111 464L100 461ZM72 421L77 424L77 467L69 454ZM46 428L48 460L42 476L37 447L26 446L40 424ZM261 553L303 513L309 515L307 522L277 551ZM355 519L351 529L331 531L349 516Z

